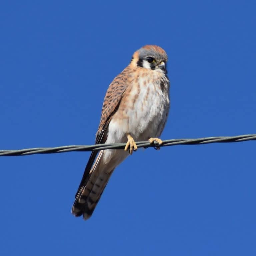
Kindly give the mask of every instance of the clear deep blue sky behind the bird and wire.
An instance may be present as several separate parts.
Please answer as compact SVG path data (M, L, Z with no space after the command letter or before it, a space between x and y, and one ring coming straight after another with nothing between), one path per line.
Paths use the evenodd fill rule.
M0 149L94 144L135 50L169 56L162 139L256 133L254 1L1 1ZM255 255L255 141L139 150L88 221L89 152L0 158L1 255Z

